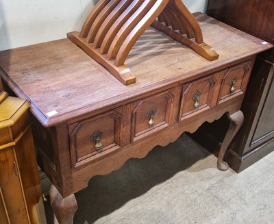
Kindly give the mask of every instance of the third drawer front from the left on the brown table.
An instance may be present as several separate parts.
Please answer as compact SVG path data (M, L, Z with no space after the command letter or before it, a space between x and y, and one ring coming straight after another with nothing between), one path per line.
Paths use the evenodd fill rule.
M181 120L216 105L219 95L216 80L218 73L183 85L179 112Z

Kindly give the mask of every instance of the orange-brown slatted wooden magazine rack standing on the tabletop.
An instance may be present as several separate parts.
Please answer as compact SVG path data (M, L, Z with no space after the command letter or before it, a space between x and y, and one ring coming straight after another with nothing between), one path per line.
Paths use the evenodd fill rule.
M81 32L67 36L121 83L130 85L136 77L124 63L149 25L210 61L219 58L203 42L201 28L182 0L99 0Z

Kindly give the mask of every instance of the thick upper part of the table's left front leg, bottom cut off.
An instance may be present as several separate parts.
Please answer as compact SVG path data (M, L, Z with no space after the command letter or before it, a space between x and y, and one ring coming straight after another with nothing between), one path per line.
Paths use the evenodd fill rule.
M77 210L77 201L74 195L63 198L55 186L49 191L51 207L59 224L73 224L73 216Z

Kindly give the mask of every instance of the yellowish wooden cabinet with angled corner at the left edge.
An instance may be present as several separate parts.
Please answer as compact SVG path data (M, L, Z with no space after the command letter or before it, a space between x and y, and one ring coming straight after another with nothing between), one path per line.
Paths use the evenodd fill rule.
M46 223L29 102L0 93L0 223Z

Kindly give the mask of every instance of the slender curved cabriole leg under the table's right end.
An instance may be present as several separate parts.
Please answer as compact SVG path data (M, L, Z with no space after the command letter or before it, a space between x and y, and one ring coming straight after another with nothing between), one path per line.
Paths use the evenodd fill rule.
M244 114L242 114L242 111L238 110L234 114L227 114L227 118L230 121L229 128L227 131L227 134L225 135L225 139L223 140L223 144L221 146L219 155L218 155L218 162L217 167L221 171L226 171L228 169L227 162L223 161L223 157L225 155L225 151L227 151L227 148L234 138L234 136L237 134L238 130L242 126L242 122L244 121Z

